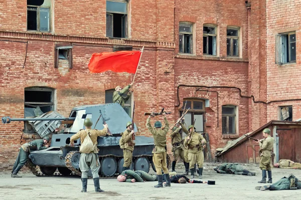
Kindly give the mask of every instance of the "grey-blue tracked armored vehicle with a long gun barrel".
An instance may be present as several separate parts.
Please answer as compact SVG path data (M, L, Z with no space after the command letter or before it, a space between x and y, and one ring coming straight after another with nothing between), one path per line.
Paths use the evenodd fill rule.
M35 126L35 121L44 122L43 129L49 127L54 120L61 120L65 124L63 133L52 134L51 146L47 149L36 150L30 148L29 161L27 166L35 175L53 175L56 170L62 175L70 175L72 172L81 175L79 169L79 146L80 139L75 140L75 146L70 146L70 137L84 128L85 118L91 118L92 128L103 129L103 123L108 124L112 135L98 137L98 157L100 161L101 177L114 177L122 170L123 153L119 146L120 133L126 129L126 123L131 121L126 111L118 103L95 104L74 107L68 118L21 118L14 119L3 117L3 122L27 120ZM47 121L48 119L48 121ZM40 125L41 126L41 125ZM37 127L35 127L36 129ZM41 128L40 128L41 129ZM137 128L135 126L135 132ZM45 131L45 130L44 130ZM146 136L135 137L135 147L133 151L133 162L131 169L149 171L152 164L152 150L154 148L154 138ZM170 161L168 156L168 161ZM169 164L170 162L168 162ZM39 167L36 167L39 166ZM155 170L156 171L156 170Z

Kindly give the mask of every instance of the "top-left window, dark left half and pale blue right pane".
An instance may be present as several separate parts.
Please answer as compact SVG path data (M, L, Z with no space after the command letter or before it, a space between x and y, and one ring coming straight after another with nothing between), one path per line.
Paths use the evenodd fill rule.
M51 0L27 0L27 29L50 32Z

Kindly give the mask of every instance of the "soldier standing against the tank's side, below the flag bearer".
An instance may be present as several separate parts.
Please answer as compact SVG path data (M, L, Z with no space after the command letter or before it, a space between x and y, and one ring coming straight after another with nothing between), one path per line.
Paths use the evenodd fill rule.
M121 134L123 139L123 168L122 171L129 169L130 164L133 160L133 150L134 150L134 141L132 140L132 135L134 130L131 130L132 123L131 121L126 123L126 130Z

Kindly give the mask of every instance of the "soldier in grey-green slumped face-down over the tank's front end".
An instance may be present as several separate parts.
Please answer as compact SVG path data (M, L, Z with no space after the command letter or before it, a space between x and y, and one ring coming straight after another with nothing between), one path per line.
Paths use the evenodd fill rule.
M29 146L37 146L37 150L42 150L49 147L49 144L47 144L50 141L48 136L43 137L43 139L36 139L30 142L27 142L25 144L22 144L18 157L15 161L15 164L13 166L12 170L12 177L18 177L21 178L21 175L18 175L17 173L20 171L20 169L25 165L27 162L27 158L29 155ZM44 146L45 145L45 146Z

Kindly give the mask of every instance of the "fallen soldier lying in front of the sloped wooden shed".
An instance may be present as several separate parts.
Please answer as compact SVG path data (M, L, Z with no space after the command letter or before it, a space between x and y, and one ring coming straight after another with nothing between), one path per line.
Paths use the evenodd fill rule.
M223 163L214 168L217 173L230 173L230 174L238 174L238 175L255 175L255 172L251 172L246 170L239 163Z

